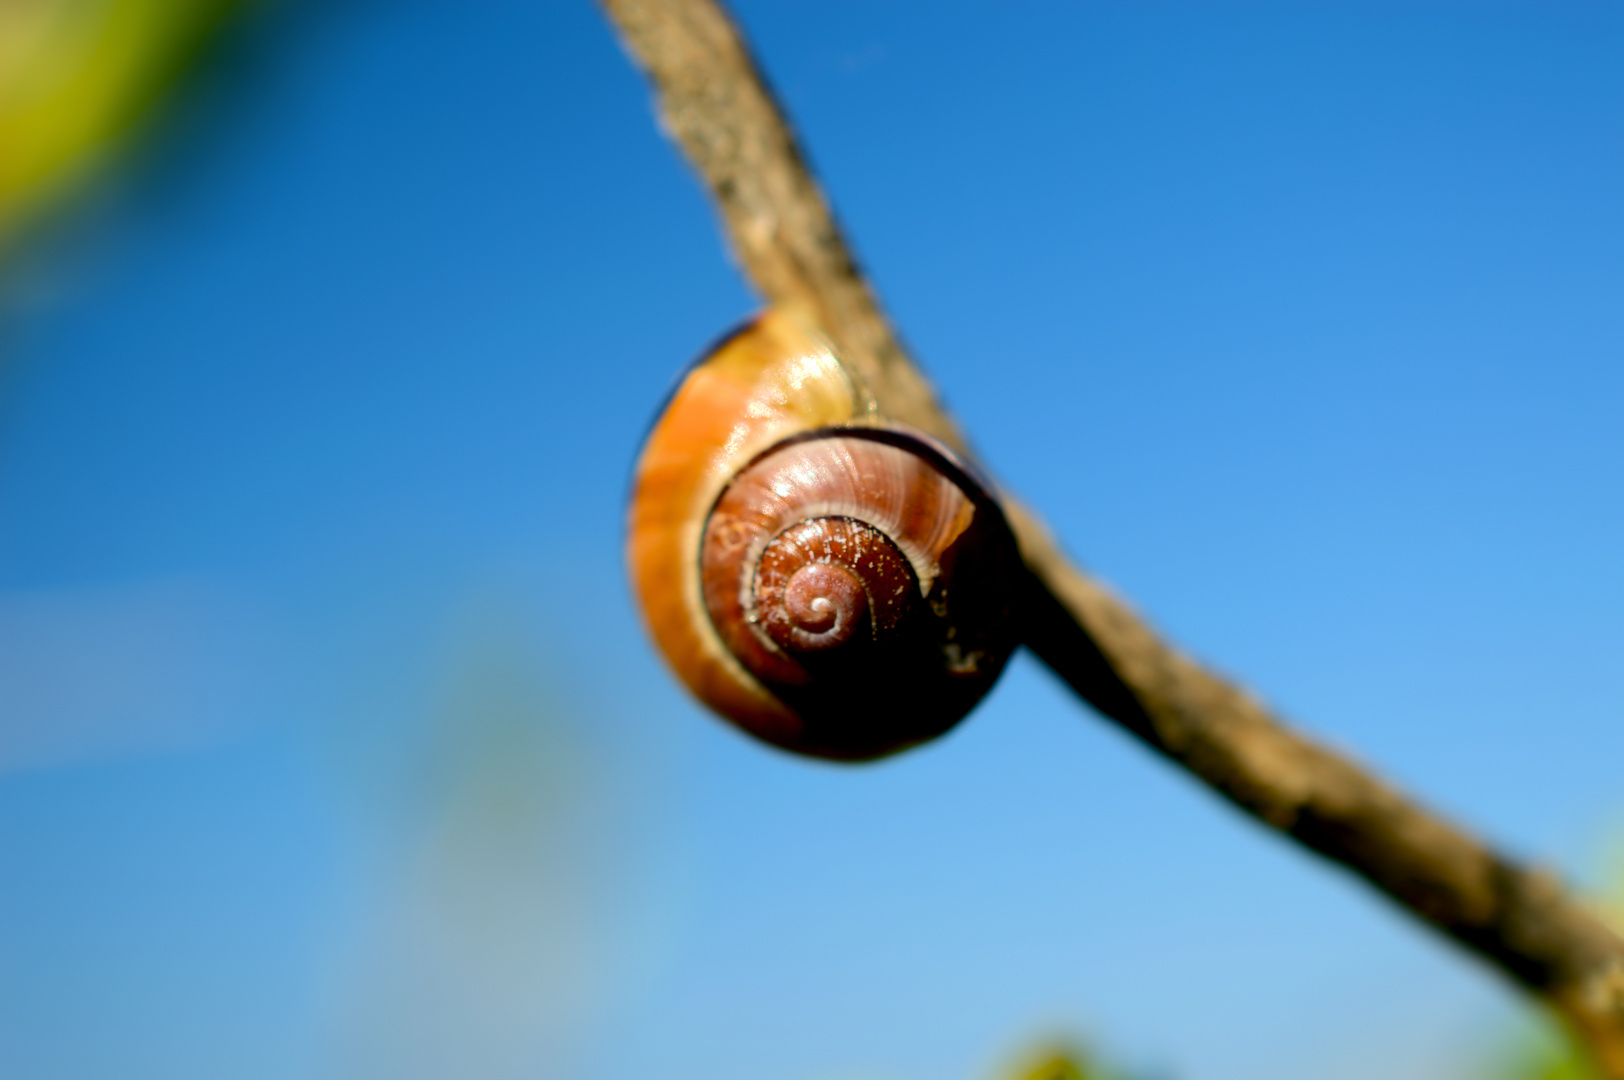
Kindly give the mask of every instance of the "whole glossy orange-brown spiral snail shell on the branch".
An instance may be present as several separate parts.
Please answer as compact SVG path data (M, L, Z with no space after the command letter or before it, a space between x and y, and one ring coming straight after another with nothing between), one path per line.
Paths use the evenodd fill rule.
M677 676L788 750L862 760L939 736L1015 645L997 502L783 312L679 383L637 466L628 557Z

